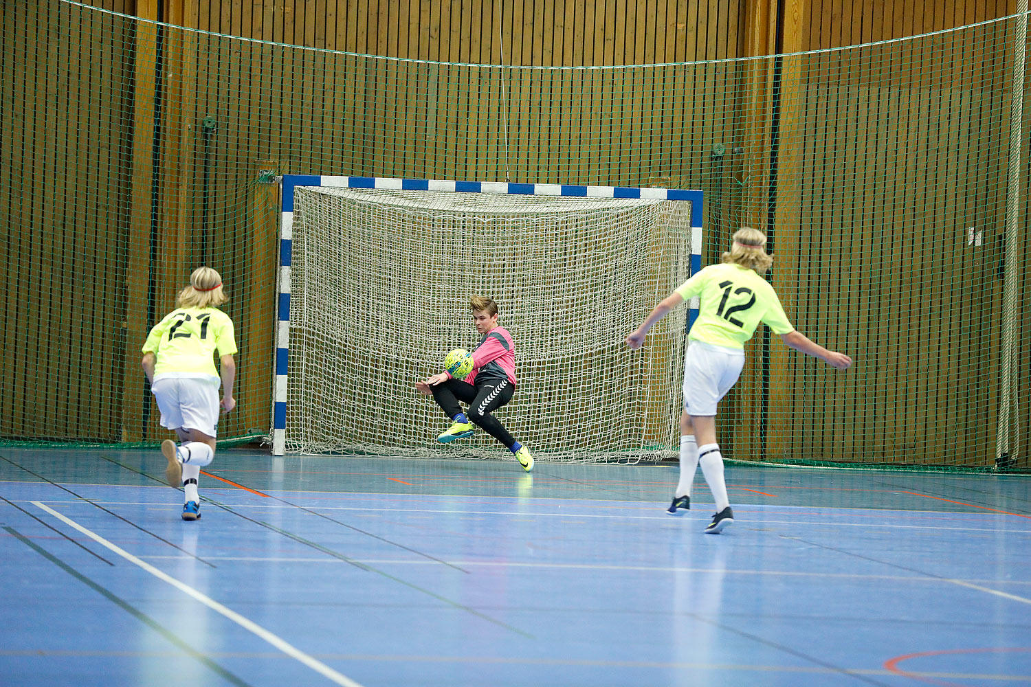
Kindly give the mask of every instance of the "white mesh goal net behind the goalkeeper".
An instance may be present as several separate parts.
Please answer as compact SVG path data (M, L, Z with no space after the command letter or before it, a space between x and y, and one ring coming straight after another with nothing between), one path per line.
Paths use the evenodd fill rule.
M518 184L521 193L335 187L315 178L324 185L285 184L293 214L276 452L511 458L481 430L438 444L450 420L414 387L441 371L448 350L479 342L468 302L484 295L516 342L519 384L495 416L535 456L673 454L689 310L653 328L642 350L624 339L690 276L691 200L613 198L612 188L531 195L532 184Z

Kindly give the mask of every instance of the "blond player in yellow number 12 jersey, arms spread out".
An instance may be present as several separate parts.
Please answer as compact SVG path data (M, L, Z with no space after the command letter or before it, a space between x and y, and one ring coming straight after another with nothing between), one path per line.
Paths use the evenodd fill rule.
M744 342L759 322L795 350L845 370L852 358L828 350L797 332L773 287L762 274L773 264L766 252L766 235L743 227L734 233L723 263L700 270L663 299L634 332L627 345L640 348L648 329L684 301L699 297L698 318L688 335L684 363L684 412L680 415L680 480L667 509L671 515L691 508L691 485L701 463L702 474L716 500L716 515L705 528L718 535L734 521L724 481L723 456L716 442L716 414L720 400L730 390L744 366Z

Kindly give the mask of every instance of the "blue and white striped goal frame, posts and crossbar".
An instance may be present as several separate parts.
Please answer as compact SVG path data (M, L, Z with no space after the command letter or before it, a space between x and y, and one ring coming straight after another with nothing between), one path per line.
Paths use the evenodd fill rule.
M272 454L284 455L287 445L287 379L290 359L290 294L294 225L294 192L298 186L335 186L396 191L443 191L467 194L496 194L566 198L618 198L691 202L691 274L701 269L702 192L686 188L634 188L626 186L580 186L555 183L512 183L504 181L445 181L397 179L365 176L313 176L288 174L281 177L279 233L279 293L276 322L275 396L272 412ZM688 329L698 313L698 302L690 304Z

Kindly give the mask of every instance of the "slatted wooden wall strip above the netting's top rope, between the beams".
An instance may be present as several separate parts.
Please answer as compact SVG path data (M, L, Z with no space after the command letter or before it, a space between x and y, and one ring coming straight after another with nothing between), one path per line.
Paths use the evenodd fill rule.
M363 55L474 64L501 64L502 55L504 64L534 66L733 58L740 55L744 25L743 0L195 1L197 22L184 26Z

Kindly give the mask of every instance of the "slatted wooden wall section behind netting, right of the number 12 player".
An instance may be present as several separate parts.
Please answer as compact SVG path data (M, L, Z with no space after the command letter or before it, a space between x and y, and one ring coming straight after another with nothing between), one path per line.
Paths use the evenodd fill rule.
M1010 75L994 50L968 45L1007 44L1005 27L917 42L894 57L889 46L866 48L861 61L827 54L835 78L813 74L800 94L808 111L794 145L803 153L777 185L820 181L803 194L797 220L802 260L787 274L778 261L774 283L807 283L809 300L789 309L796 324L862 360L847 383L801 375L806 388L805 362L772 358L771 380L794 383L771 396L771 408L794 414L771 425L771 456L949 465L963 455L993 465L999 344L989 246L998 245L1006 194L1008 100L997 85ZM932 50L935 69L911 68L932 64ZM796 224L790 214L776 226L781 250ZM985 247L967 244L968 227L985 232ZM839 302L839 291L853 298ZM832 425L840 440L826 444ZM954 428L962 430L940 441Z

